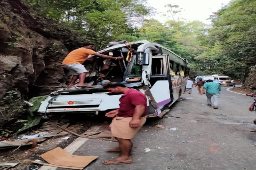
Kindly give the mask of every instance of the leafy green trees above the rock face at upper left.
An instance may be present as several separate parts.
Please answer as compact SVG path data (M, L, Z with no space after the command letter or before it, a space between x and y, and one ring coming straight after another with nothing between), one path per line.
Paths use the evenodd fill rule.
M34 11L78 31L102 47L152 12L145 0L23 0Z

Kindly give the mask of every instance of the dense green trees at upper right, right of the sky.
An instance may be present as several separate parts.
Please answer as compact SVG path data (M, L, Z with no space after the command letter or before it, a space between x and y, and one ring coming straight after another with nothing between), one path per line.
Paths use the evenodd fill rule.
M256 64L255 9L256 1L234 0L212 16L213 27L200 36L205 51L196 57L212 63L207 71L237 79L248 76Z

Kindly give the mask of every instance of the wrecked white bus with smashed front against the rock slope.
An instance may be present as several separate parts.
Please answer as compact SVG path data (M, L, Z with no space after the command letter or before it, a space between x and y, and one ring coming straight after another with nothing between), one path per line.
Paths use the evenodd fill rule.
M85 64L90 74L86 84L52 92L41 102L41 113L104 114L119 108L122 94L109 94L100 81L123 82L127 87L140 90L147 97L147 117L162 117L170 106L185 92L189 63L167 48L144 41L113 42L98 53L124 60L95 58ZM104 77L102 77L104 76ZM100 80L101 79L101 80Z

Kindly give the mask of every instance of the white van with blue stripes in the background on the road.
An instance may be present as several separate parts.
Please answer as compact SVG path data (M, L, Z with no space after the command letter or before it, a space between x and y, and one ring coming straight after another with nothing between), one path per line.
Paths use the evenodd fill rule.
M195 83L199 80L199 78L206 80L213 80L215 83L219 83L220 85L232 86L231 78L229 76L223 74L213 74L211 76L197 76L195 78Z

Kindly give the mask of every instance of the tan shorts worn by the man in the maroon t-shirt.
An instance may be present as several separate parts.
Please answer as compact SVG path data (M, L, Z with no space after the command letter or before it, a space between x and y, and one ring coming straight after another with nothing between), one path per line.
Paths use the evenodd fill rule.
M111 133L113 137L121 139L132 139L139 129L145 124L146 117L140 118L140 126L138 128L131 128L129 123L132 117L115 117L110 124Z

